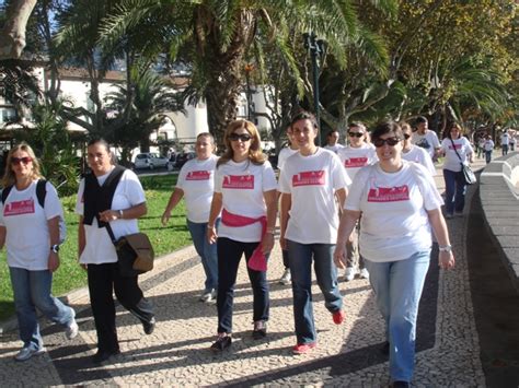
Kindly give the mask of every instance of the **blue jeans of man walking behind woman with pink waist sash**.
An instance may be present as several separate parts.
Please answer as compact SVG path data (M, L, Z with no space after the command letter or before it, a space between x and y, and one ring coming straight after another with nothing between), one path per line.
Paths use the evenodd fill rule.
M209 244L207 240L207 222L195 223L187 221L187 228L189 230L193 244L196 252L201 259L201 266L206 273L205 292L218 290L218 250L216 244ZM220 220L217 220L218 227Z

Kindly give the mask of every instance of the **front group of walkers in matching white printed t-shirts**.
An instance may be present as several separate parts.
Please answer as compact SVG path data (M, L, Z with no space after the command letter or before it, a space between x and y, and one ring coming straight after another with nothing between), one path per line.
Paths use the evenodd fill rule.
M174 207L185 198L188 230L206 274L200 299L217 301L217 337L210 349L221 352L232 344L234 287L243 256L253 291L251 334L257 340L267 336L267 264L275 244L279 202L279 244L293 294L292 352L302 354L318 346L312 264L331 319L341 325L345 314L337 268L354 268L356 251L360 273L365 270L364 278L371 283L385 322L391 380L394 386L408 386L414 369L418 303L429 267L432 234L439 245L438 264L443 269L454 266L441 213L443 202L430 164L419 163L423 152L407 143L411 128L393 121L379 124L371 131L371 142L362 124L351 124L349 145L338 149L338 154L315 145L319 128L309 113L295 116L287 131L292 146L282 161L278 180L262 152L254 124L232 121L226 130L226 150L219 158L214 155L212 136L198 134L197 157L181 169L177 186L162 214L165 225ZM453 150L459 150L457 139L452 140ZM138 231L137 219L146 214L147 205L135 173L116 166L112 156L104 140L89 142L92 174L81 180L76 205L80 216L79 259L88 270L97 332L94 362L119 353L113 290L120 304L142 324L145 333L151 333L155 325L153 308L139 289L137 277L122 277L118 271L113 240ZM14 184L14 187L2 204L0 243L8 247L24 342L21 353L28 349L25 353L30 354L16 355L20 361L43 351L35 307L45 309L36 294L46 295L48 304L54 304L46 315L66 328L67 337L78 332L73 310L50 296L62 210L56 190L48 183L50 196L46 201L53 205L43 209L34 205L38 179L37 161L28 145L13 148L8 156L4 185ZM16 225L36 220L47 227L41 228L43 235L37 249L30 251L27 245L32 247L36 243L26 238L23 226ZM358 234L355 244L354 231ZM28 256L19 258L21 252ZM33 264L36 257L37 267ZM16 280L19 269L24 272L23 282ZM45 273L44 292L34 290L32 272ZM16 282L23 283L23 290L15 287ZM22 330L27 322L31 330Z

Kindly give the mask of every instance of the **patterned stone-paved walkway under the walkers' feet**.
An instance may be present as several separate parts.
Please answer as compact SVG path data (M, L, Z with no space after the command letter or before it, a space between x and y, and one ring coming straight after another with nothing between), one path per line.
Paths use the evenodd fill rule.
M442 190L442 179L438 179L438 186ZM474 190L469 190L469 204ZM468 205L466 212L470 211ZM492 386L481 362L471 295L465 244L470 220L465 214L449 221L455 270L441 272L431 261L419 313L413 380L416 387ZM16 332L2 337L1 385L387 386L388 360L380 352L383 326L368 281L341 282L346 311L342 326L333 324L315 285L319 348L295 356L290 352L296 342L291 289L278 284L281 273L277 245L268 272L269 332L265 340L254 341L252 295L242 264L234 299L234 341L231 351L212 354L208 348L216 336L216 306L197 301L204 278L201 264L193 247L174 252L160 259L152 273L141 279L146 295L157 309L158 325L151 336L145 336L137 320L119 307L117 327L123 354L109 364L95 366L90 361L96 338L89 297L88 293L79 292L71 301L80 325L80 334L74 340L66 341L59 328L45 325L48 352L16 363L12 360L20 346ZM492 367L494 360L487 361ZM512 381L517 374L512 371L510 376L499 386L516 387L519 383Z

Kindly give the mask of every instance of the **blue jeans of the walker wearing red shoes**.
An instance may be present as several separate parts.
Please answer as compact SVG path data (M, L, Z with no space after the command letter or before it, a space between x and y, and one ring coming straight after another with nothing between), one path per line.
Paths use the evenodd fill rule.
M324 296L324 306L330 313L343 307L343 295L338 290L337 268L333 262L334 244L288 243L290 273L292 275L293 320L299 344L316 341L312 308L312 258L319 287Z

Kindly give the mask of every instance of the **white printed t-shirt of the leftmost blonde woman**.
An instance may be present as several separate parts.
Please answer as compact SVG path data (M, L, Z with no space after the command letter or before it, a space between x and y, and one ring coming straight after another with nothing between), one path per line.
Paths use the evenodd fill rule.
M50 235L47 221L64 215L54 186L47 181L45 207L42 208L36 184L34 180L25 190L13 186L0 208L0 225L5 226L8 266L30 271L48 269Z

